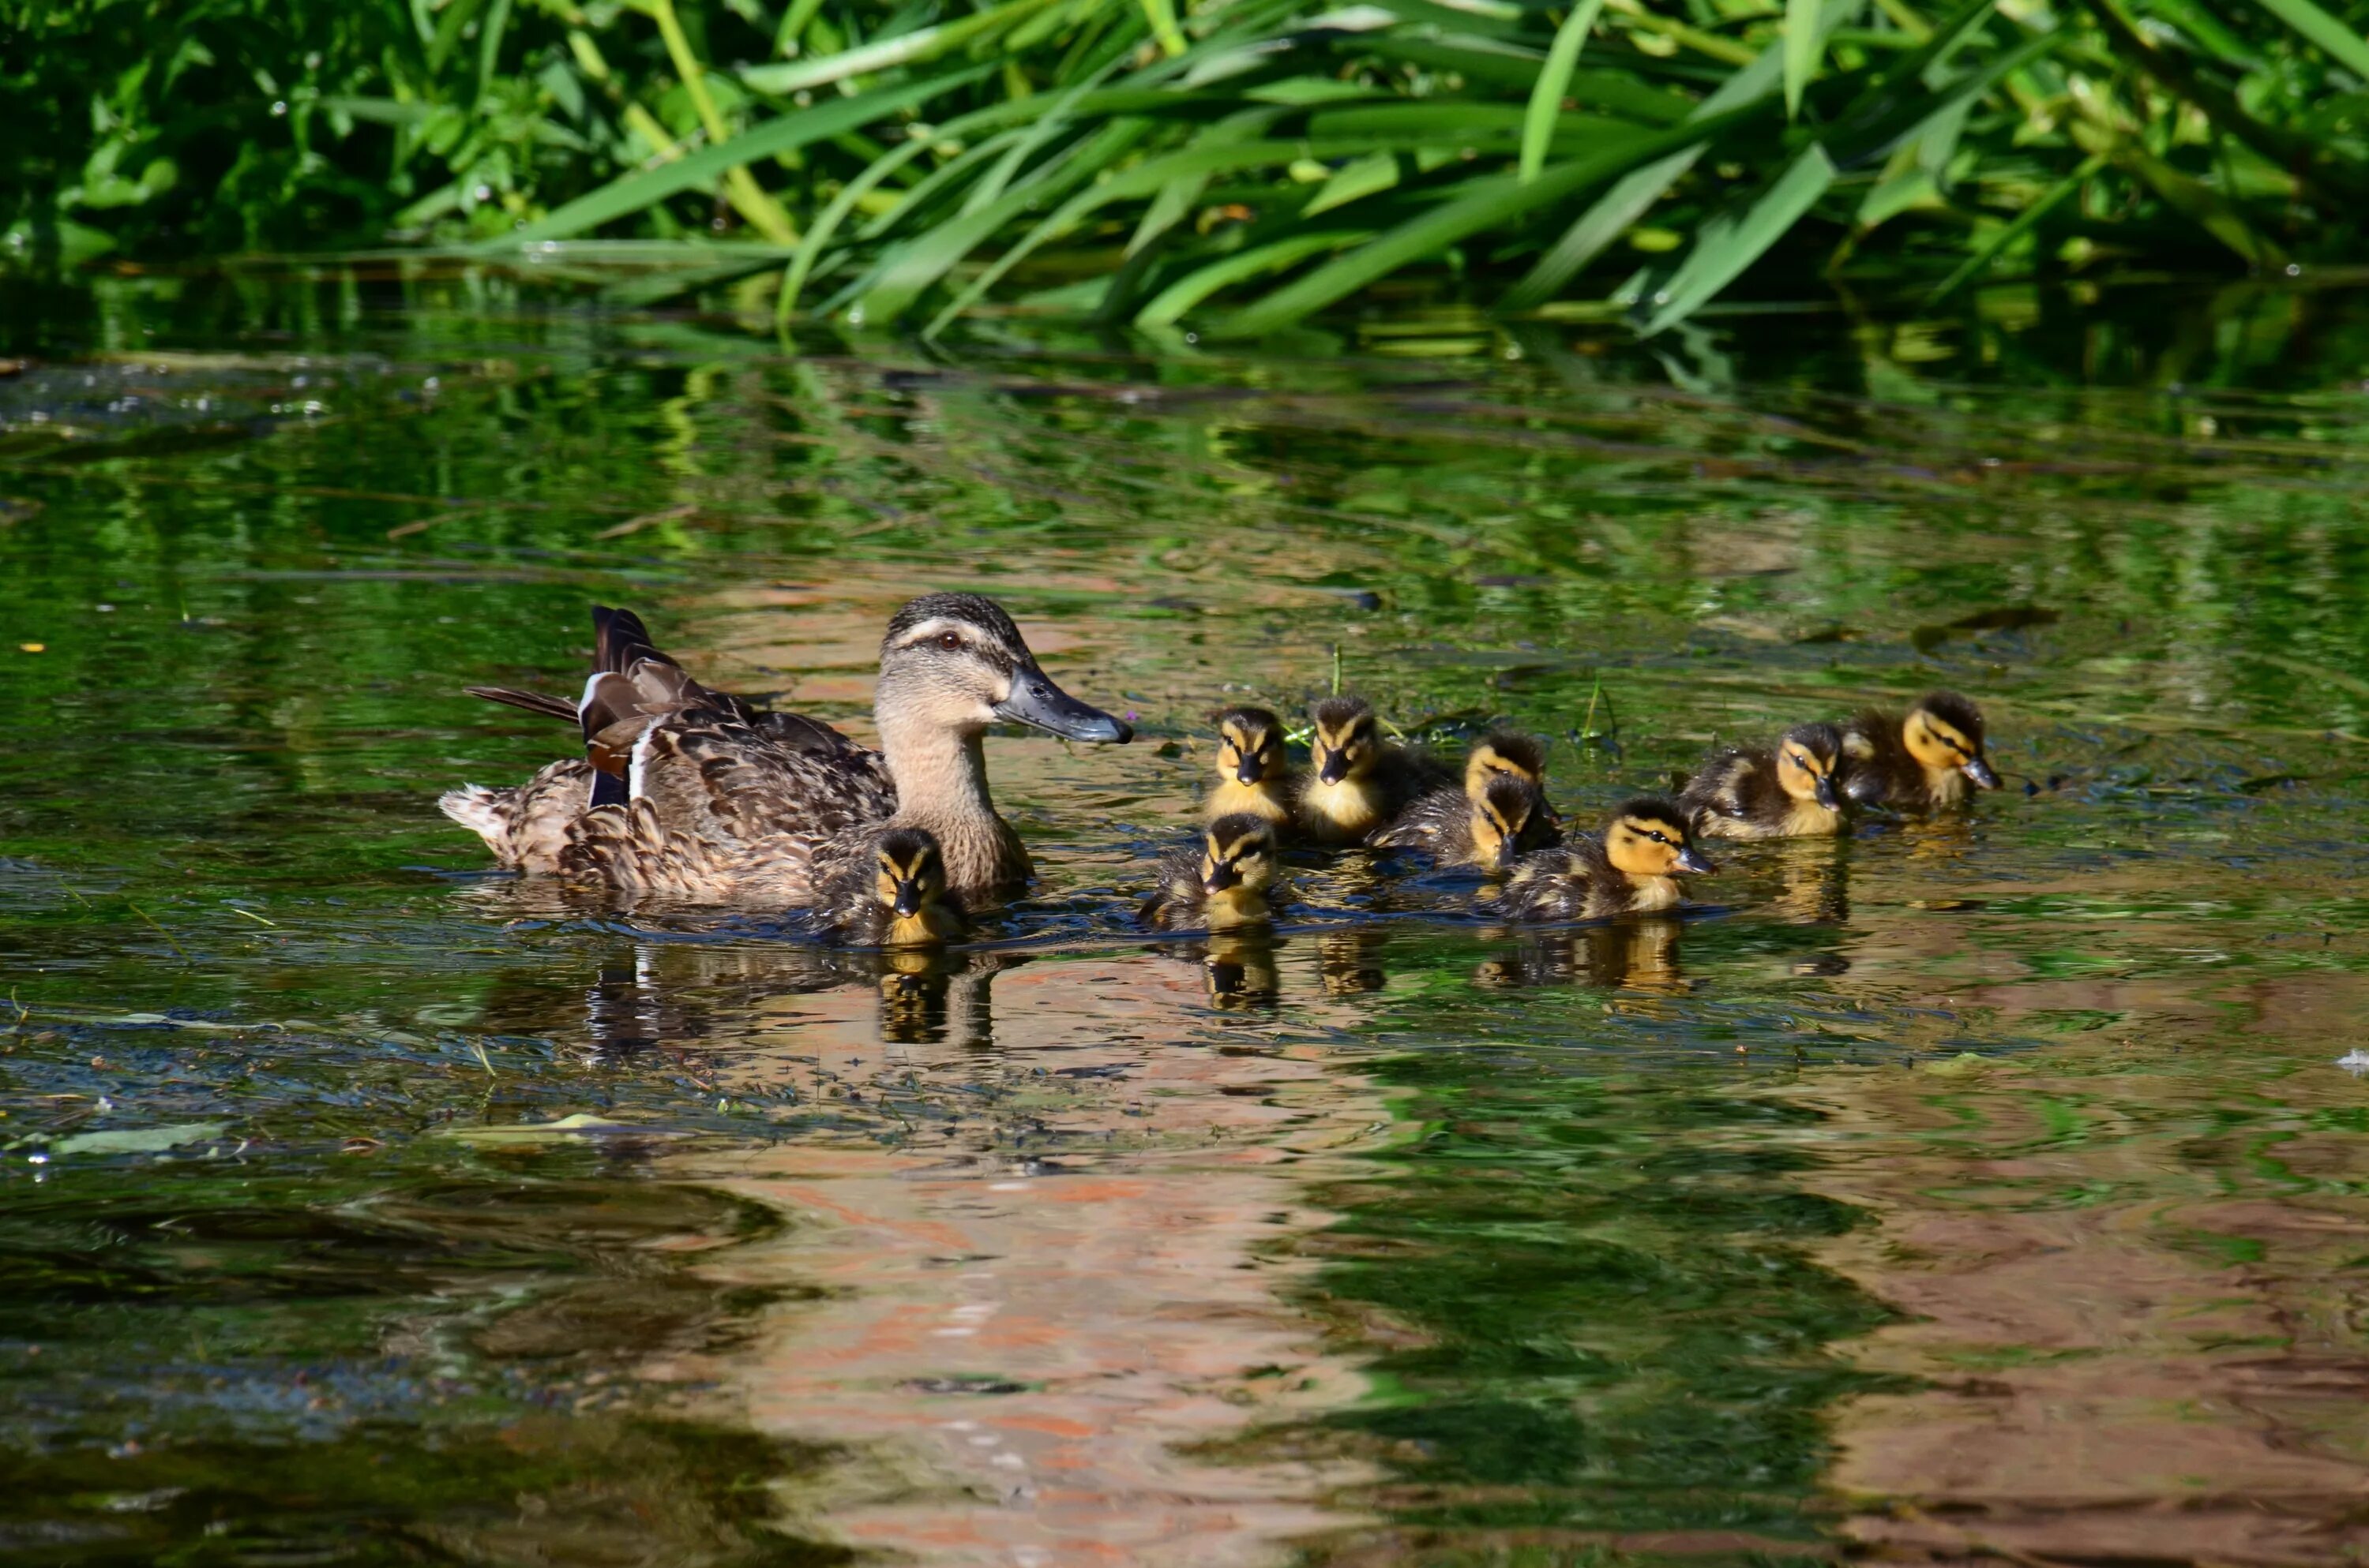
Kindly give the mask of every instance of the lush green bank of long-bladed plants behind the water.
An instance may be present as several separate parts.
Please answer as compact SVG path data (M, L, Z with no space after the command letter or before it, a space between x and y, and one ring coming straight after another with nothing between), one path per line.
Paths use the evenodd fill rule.
M2357 251L2369 2L5 0L12 265L583 242L784 317L1263 334L1443 279L1649 332L1744 282Z

